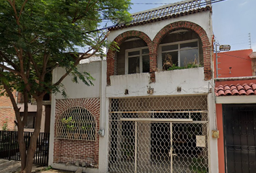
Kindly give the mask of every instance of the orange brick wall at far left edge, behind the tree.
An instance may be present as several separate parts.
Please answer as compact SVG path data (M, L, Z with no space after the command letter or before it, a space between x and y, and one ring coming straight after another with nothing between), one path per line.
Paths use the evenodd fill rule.
M16 92L12 92L15 96ZM15 113L12 107L12 102L7 96L0 97L0 130L4 123L7 123L8 130L14 130Z

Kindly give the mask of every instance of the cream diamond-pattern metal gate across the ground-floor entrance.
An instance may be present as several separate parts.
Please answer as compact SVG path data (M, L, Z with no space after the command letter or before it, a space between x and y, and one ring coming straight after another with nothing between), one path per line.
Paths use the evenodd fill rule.
M208 172L207 107L206 96L111 99L108 172Z

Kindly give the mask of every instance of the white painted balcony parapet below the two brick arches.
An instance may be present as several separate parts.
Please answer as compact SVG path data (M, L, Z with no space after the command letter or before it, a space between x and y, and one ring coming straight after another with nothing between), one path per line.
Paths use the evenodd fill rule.
M111 86L106 88L106 97L147 97L205 94L209 91L209 81L204 80L203 68L188 68L174 71L155 72L155 83L150 83L150 74L127 74L111 76ZM148 94L148 87L154 89ZM177 87L182 87L177 92ZM124 94L128 89L129 94Z

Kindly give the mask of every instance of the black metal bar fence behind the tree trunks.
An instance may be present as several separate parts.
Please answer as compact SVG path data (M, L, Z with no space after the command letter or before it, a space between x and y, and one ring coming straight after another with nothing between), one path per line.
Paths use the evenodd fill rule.
M24 133L24 141L26 150L30 144L30 138L33 132ZM49 148L49 133L40 133L36 144L34 164L48 164L48 148ZM20 161L20 150L18 143L17 131L1 131L0 130L0 158Z

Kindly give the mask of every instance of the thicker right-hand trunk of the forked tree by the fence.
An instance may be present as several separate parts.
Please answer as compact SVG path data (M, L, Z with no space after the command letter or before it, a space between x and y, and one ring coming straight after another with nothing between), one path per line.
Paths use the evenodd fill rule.
M27 150L27 159L25 164L25 169L22 169L20 173L31 173L33 167L33 158L35 155L36 144L38 140L38 136L40 133L40 125L42 120L42 112L43 112L43 97L38 97L36 99L37 112L35 117L35 130L33 135L30 138L30 146Z

